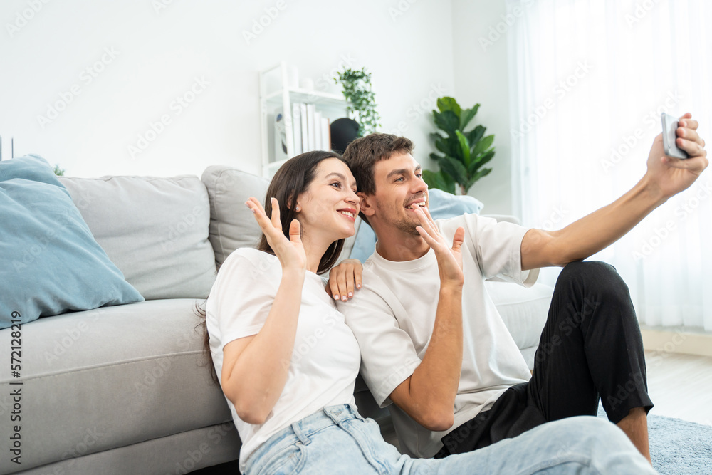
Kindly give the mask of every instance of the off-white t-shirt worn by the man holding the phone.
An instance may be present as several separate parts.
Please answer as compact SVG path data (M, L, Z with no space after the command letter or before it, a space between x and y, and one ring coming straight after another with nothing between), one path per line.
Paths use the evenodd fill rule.
M528 381L530 372L516 343L485 290L486 278L533 286L539 271L522 271L521 243L528 229L476 214L435 221L449 244L459 226L465 283L462 293L463 358L455 422L431 432L393 404L389 407L401 451L431 457L440 438L489 409L508 387ZM435 251L413 261L387 261L377 252L363 266L362 288L338 303L361 349L361 375L381 407L420 364L435 323L440 277Z

